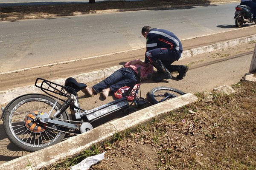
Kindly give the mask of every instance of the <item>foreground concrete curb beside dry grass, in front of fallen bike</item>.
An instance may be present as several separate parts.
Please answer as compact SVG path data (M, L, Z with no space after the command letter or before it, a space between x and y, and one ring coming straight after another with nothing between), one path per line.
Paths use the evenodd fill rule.
M47 147L43 150L29 153L26 156L21 156L12 161L8 161L1 164L0 170L38 170L41 167L47 167L48 165L54 164L61 159L81 153L83 150L89 148L92 144L102 142L113 136L113 134L116 132L121 132L125 129L141 125L163 113L195 102L197 99L198 98L193 94L185 94L157 105L152 105L120 119L116 119L110 123L96 127L86 133L74 136L51 147ZM137 119L138 117L140 119ZM26 165L29 164L28 160L30 160L32 168L26 167Z

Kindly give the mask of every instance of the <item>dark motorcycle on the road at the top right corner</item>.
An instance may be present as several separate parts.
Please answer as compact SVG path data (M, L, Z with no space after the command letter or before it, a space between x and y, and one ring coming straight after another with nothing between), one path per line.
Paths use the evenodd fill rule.
M236 27L241 27L244 23L253 23L253 14L252 9L246 5L238 5L236 6L236 12L234 17ZM255 22L256 23L256 22Z

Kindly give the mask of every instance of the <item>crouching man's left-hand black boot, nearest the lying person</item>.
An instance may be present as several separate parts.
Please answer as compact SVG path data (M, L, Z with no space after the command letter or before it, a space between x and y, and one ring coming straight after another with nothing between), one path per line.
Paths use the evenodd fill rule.
M154 75L152 77L153 81L160 82L163 79L171 79L172 74L167 70L160 60L152 62L152 65L159 71L160 74Z

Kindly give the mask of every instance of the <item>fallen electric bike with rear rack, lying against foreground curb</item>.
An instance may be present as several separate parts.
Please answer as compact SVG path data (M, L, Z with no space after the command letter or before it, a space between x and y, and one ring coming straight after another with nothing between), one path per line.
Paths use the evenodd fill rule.
M140 75L140 68L137 69ZM137 85L137 86L136 86ZM131 113L147 103L140 97L140 76L137 83L122 93L122 98L91 110L79 106L77 92L87 85L70 77L64 86L47 79L37 78L35 86L45 94L25 94L13 99L2 108L3 127L8 139L27 151L37 151L61 142L66 134L78 135L92 130L92 122L111 113ZM134 93L134 86L135 88ZM157 87L148 92L152 104L185 94L175 88ZM133 96L133 100L128 102ZM70 112L68 112L68 108Z

